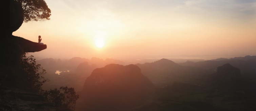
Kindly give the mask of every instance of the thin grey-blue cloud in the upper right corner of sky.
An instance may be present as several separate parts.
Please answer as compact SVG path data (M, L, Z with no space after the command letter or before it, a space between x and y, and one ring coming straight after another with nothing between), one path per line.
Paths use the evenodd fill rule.
M188 0L177 6L189 14L207 19L250 21L256 15L255 0Z

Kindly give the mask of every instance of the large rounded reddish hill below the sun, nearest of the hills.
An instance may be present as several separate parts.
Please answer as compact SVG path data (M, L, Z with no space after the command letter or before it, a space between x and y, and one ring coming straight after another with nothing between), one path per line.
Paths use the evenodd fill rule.
M109 64L92 72L79 95L85 100L83 109L125 111L153 93L153 83L138 66Z

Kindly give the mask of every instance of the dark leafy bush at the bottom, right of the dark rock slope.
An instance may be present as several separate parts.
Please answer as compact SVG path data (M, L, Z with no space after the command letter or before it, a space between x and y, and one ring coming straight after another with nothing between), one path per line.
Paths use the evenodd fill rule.
M76 100L79 98L79 95L76 94L74 88L60 87L60 90L50 89L49 91L44 91L44 97L54 106L59 106L67 108L69 110L75 109Z

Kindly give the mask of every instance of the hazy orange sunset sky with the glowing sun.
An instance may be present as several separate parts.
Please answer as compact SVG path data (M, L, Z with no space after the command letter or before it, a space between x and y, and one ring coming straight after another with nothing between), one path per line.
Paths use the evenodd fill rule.
M35 42L42 36L47 49L31 53L37 58L256 55L256 0L45 2L51 20L13 33Z

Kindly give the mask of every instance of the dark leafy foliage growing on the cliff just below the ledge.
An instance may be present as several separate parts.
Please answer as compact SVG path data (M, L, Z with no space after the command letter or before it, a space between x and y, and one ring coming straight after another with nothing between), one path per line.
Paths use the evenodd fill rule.
M36 64L36 59L33 55L26 57L27 53L21 56L21 61L18 66L18 73L15 75L18 86L30 91L39 92L42 90L41 86L48 79L44 79L42 75L46 74L45 70L41 68L40 64Z

